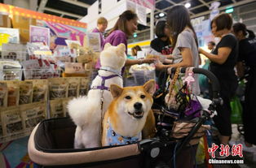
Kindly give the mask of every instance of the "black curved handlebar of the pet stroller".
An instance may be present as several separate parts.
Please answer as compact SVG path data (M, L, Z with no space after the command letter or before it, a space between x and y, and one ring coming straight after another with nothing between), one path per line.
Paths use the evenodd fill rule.
M180 69L180 73L186 73L186 69L187 69L186 67L182 67ZM171 68L171 73L174 73L175 71L176 71L175 67ZM207 71L202 68L194 67L194 68L192 68L192 71L195 74L205 75L210 80L212 89L213 89L213 99L218 99L220 88L219 88L219 83L218 83L218 79L216 78L216 76L211 71Z

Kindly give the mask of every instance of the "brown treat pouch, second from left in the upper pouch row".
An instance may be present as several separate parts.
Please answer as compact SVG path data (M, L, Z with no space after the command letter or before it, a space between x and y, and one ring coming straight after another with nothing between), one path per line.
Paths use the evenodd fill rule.
M20 82L6 81L8 88L7 106L18 106L20 96Z

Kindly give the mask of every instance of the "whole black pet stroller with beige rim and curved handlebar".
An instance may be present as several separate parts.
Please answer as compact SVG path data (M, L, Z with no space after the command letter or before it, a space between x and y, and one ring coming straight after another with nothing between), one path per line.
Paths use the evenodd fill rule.
M172 72L175 70L173 69ZM186 71L181 69L181 73ZM218 80L210 72L194 68L195 73L206 75L212 82L214 99L208 110L198 118L188 136L179 140L166 139L164 135L153 139L141 140L137 144L109 146L94 149L73 149L76 126L70 118L51 118L42 121L33 129L29 137L29 157L38 167L90 167L90 168L141 168L170 167L176 155L183 153L188 141L210 118L218 99ZM164 137L164 138L163 138Z

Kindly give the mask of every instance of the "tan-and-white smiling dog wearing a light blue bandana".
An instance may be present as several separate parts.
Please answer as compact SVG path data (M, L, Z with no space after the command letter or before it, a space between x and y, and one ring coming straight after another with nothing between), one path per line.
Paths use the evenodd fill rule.
M102 146L132 144L154 136L155 118L151 110L155 81L143 86L110 86L113 101L104 114Z

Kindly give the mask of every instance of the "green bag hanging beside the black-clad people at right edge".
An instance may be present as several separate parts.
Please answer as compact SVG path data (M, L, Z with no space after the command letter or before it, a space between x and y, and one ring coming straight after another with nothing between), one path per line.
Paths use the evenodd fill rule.
M242 106L241 102L238 97L233 97L232 100L230 101L230 106L231 106L231 122L232 123L242 123Z

